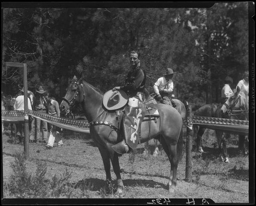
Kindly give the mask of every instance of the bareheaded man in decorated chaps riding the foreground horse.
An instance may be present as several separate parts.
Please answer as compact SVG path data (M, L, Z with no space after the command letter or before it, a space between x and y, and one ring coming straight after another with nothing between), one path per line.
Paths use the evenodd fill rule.
M120 154L135 149L140 136L141 122L145 115L145 105L142 101L144 95L146 74L140 68L138 53L132 51L130 54L131 71L127 74L124 86L116 86L112 90L123 90L129 97L125 105L118 142L112 148ZM120 142L121 140L121 142Z

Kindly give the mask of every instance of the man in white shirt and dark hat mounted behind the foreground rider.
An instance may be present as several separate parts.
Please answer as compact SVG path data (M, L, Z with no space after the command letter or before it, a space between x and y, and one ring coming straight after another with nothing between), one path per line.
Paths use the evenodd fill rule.
M163 77L160 77L156 83L154 84L153 88L155 91L155 99L163 104L168 104L172 106L169 102L172 102L173 107L176 107L176 104L173 101L173 98L169 98L169 94L171 94L174 90L174 82L173 82L173 75L176 74L172 70L172 68L167 68L166 73Z

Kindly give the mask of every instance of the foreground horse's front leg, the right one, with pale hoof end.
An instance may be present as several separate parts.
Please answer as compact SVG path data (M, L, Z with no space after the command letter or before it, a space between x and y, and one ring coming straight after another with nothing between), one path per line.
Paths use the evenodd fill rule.
M112 159L112 166L113 166L113 170L116 174L116 179L117 179L116 196L122 197L124 186L123 186L123 180L122 180L121 174L120 174L119 158L118 158L118 155L116 152L114 154L114 158Z

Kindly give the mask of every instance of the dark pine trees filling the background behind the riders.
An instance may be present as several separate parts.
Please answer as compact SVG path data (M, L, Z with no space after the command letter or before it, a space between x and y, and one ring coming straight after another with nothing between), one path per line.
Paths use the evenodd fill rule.
M129 52L140 53L147 89L167 67L174 94L191 104L219 102L227 75L233 87L248 70L248 3L211 8L3 8L2 91L15 96L28 66L28 87L57 100L76 75L102 93L123 85Z

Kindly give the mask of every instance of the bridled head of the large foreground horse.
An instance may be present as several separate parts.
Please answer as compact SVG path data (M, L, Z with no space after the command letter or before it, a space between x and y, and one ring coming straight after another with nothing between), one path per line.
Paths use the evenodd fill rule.
M68 113L71 112L70 108L72 106L84 100L83 83L79 83L76 76L74 76L66 90L67 93L65 97L62 98L63 100L59 107L60 112L67 116Z

